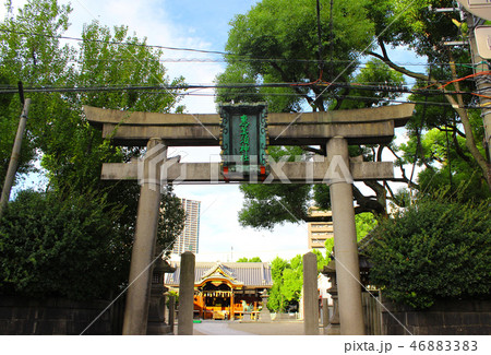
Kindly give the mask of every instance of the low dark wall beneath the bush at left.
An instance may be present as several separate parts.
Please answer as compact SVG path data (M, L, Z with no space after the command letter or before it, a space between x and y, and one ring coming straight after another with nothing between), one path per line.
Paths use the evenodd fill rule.
M105 300L34 300L0 296L0 335L79 335L108 305ZM84 334L121 334L122 305L116 303Z

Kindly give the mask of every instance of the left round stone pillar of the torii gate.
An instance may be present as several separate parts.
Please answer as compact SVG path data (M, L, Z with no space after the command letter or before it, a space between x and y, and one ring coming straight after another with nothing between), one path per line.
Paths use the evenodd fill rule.
M129 288L124 309L123 335L146 335L154 251L160 208L160 167L167 146L151 139L143 162L136 229L131 255Z

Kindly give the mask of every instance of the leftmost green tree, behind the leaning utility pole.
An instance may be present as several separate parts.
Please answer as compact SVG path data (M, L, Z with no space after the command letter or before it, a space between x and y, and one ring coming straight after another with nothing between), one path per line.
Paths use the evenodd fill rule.
M7 3L8 5L8 3ZM70 5L58 5L56 0L28 1L16 16L9 15L0 23L0 80L3 87L63 86L74 74L70 60L72 49L62 46L59 36L69 26ZM39 35L26 35L36 33ZM0 182L3 186L10 154L17 130L22 105L19 95L2 94L0 110ZM47 131L46 117L56 113L59 99L53 96L32 94L33 105L23 141L20 174L34 170L33 159L39 147L38 140ZM52 115L51 117L55 117ZM43 118L43 119L39 119Z

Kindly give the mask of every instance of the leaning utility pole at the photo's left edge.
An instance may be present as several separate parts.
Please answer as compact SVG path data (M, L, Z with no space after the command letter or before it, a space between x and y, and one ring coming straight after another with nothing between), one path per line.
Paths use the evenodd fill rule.
M2 216L3 210L7 208L7 203L9 203L10 190L12 189L15 173L17 171L19 159L21 157L22 138L24 137L25 126L27 122L27 115L31 105L31 98L27 98L24 102L24 93L22 90L21 82L19 83L19 93L21 95L21 102L24 104L24 108L22 110L21 119L19 121L17 134L15 135L12 154L9 162L9 168L7 170L5 181L3 182L2 194L0 198L0 217Z

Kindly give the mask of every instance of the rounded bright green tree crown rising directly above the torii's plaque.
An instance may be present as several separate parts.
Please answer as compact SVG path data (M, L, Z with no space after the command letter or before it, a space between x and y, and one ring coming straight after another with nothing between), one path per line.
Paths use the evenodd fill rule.
M226 57L229 66L218 76L218 82L230 83L230 79L240 83L309 83L319 79L346 82L355 70L355 66L347 67L346 63L356 62L370 47L373 25L367 19L366 3L350 0L331 8L327 0L321 0L321 48L325 50L320 50L315 1L263 0L256 3L230 23L226 49L233 55ZM319 63L320 54L322 61L328 64ZM270 107L276 106L278 111L299 110L303 100L314 110L323 111L326 109L324 96L331 95L325 87L301 85L274 90L273 93L289 94L290 98L280 98L284 107L279 107L271 96L264 95L264 91L240 92L248 102L251 100L248 94L252 94L252 98L265 97ZM230 98L238 97L229 95L218 100Z

